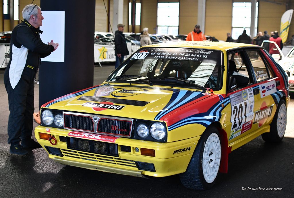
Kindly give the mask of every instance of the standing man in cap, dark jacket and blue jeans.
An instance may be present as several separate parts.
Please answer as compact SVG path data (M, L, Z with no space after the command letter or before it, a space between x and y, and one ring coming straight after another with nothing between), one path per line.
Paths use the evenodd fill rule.
M115 53L115 68L123 62L123 57L129 55L125 35L123 34L124 25L118 24L114 33L114 53Z

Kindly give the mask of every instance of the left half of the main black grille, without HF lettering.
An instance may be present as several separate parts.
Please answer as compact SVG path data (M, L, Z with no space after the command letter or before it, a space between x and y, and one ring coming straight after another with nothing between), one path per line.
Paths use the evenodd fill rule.
M93 119L89 116L64 114L64 127L94 132Z

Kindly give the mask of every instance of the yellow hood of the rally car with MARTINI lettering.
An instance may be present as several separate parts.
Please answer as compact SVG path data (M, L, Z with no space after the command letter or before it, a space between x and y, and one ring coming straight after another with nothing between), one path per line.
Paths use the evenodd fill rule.
M101 85L52 100L43 108L144 120L166 116L210 97L200 90L158 86Z

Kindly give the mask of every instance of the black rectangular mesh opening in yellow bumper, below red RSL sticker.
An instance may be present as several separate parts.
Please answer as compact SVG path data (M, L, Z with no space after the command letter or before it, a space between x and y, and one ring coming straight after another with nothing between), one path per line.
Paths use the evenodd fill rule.
M67 148L101 155L118 156L117 144L108 142L67 137Z

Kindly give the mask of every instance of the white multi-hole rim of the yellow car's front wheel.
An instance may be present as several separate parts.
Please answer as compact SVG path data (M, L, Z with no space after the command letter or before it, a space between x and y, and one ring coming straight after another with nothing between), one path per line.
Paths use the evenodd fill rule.
M212 133L207 138L202 158L203 176L207 183L216 179L220 167L220 153L220 139L216 133Z

